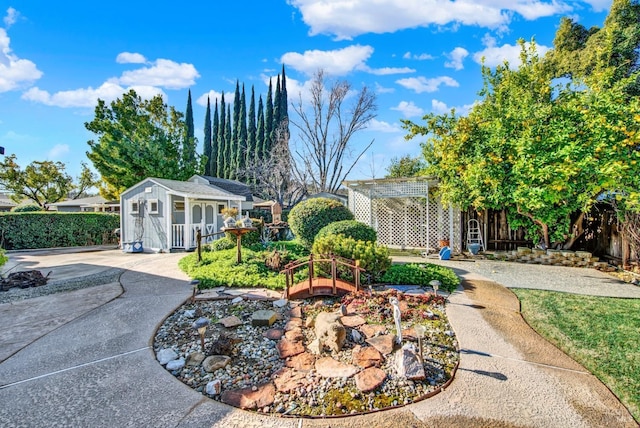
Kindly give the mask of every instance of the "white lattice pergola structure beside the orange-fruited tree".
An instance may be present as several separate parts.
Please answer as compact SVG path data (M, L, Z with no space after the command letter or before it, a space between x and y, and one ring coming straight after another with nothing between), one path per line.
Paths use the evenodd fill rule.
M434 196L437 180L429 177L349 180L349 209L356 220L378 232L378 242L392 248L440 248L448 240L462 251L461 213Z

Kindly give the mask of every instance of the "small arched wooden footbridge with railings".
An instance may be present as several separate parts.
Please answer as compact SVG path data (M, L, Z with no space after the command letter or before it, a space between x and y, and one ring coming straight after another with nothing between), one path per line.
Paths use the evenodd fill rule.
M315 276L315 264L328 263L331 265L331 277ZM297 269L304 266L309 268L309 279L294 284ZM344 266L353 273L354 282L350 283L338 278L338 266ZM314 296L342 296L360 289L360 267L358 260L345 259L334 255L313 255L308 259L300 259L287 264L280 273L287 276L287 285L284 290L285 299L306 299Z

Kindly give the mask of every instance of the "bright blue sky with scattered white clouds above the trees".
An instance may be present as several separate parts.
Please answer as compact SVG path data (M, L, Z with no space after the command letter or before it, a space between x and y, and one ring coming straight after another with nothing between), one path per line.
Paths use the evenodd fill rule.
M562 16L601 26L610 0L0 1L0 146L24 167L61 161L76 176L94 135L98 98L129 88L183 111L194 99L202 141L206 97L235 82L265 97L282 64L289 101L313 73L377 94L377 117L354 138L375 140L350 179L382 177L393 157L420 152L401 119L478 99L480 59L517 64L519 38L552 47ZM193 2L195 3L195 2ZM275 80L274 80L275 86ZM225 97L226 101L230 97ZM289 108L290 115L292 108ZM295 120L295 117L292 118ZM295 136L292 144L295 144ZM202 150L201 144L199 151Z

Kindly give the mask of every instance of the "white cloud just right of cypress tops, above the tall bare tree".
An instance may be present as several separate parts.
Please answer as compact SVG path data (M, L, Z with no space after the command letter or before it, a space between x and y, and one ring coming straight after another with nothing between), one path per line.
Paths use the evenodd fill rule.
M366 68L365 62L372 54L371 46L353 45L332 51L287 52L282 55L280 62L308 76L319 69L330 75L344 76L354 69Z

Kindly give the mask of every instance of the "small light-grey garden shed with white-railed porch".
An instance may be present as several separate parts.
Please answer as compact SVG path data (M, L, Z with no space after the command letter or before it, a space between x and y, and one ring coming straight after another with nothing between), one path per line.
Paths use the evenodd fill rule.
M237 208L239 213L251 209L250 193L243 183L214 177L194 175L187 181L146 178L120 196L122 247L131 252L193 250L198 230L210 235L224 226L224 208Z

